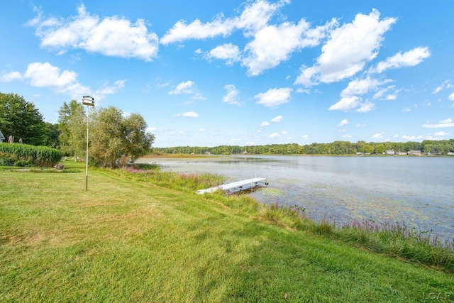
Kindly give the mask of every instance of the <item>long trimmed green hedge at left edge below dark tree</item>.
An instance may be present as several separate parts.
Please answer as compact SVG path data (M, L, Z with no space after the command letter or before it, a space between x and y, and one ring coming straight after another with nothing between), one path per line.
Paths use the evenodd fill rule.
M0 165L52 167L63 156L61 150L46 146L0 143Z

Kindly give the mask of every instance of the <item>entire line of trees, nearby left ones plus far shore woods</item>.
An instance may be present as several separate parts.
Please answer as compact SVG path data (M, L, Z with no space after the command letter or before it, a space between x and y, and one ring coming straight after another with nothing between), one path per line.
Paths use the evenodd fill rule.
M0 131L18 142L58 148L66 155L80 159L86 156L87 115L81 102L64 102L58 112L58 123L45 122L35 105L18 94L0 92ZM155 136L146 132L147 123L140 114L123 116L114 106L92 108L89 113L89 156L94 165L116 167L148 153L232 155L382 155L387 150L406 153L421 150L424 154L454 153L454 139L422 142L334 141L299 145L219 145L216 147L176 146L152 148Z

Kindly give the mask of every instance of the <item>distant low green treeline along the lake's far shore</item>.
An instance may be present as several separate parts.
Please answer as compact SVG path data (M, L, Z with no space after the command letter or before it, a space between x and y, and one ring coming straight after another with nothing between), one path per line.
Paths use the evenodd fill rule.
M382 142L375 143L358 141L334 141L333 143L312 143L308 145L271 144L271 145L220 145L216 147L197 146L176 146L172 148L152 148L154 154L203 154L211 155L232 155L232 154L253 154L253 155L383 155L387 150L394 150L394 153L407 153L410 150L420 150L425 155L447 155L454 153L454 139L422 142Z

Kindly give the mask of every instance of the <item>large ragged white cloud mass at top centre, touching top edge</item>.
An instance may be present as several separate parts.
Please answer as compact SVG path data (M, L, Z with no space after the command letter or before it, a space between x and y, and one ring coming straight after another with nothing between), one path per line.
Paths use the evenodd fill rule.
M199 19L187 23L180 20L165 33L160 43L181 43L188 39L206 39L217 36L228 37L235 31L243 31L250 42L240 51L237 45L231 43L219 45L204 54L207 60L226 60L228 65L240 61L248 68L248 75L260 75L264 70L276 67L288 60L290 55L302 48L319 45L328 32L337 26L336 19L328 21L323 26L311 28L311 25L301 19L298 23L283 22L270 24L272 16L288 4L282 0L272 4L269 1L257 0L248 2L239 16L225 18L222 13L212 21L202 22ZM200 53L201 50L198 50Z

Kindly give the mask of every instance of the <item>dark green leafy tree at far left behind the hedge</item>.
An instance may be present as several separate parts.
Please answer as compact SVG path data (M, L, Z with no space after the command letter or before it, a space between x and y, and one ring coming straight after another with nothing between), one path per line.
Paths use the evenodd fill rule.
M30 145L43 144L45 123L35 105L18 94L0 93L1 132Z

